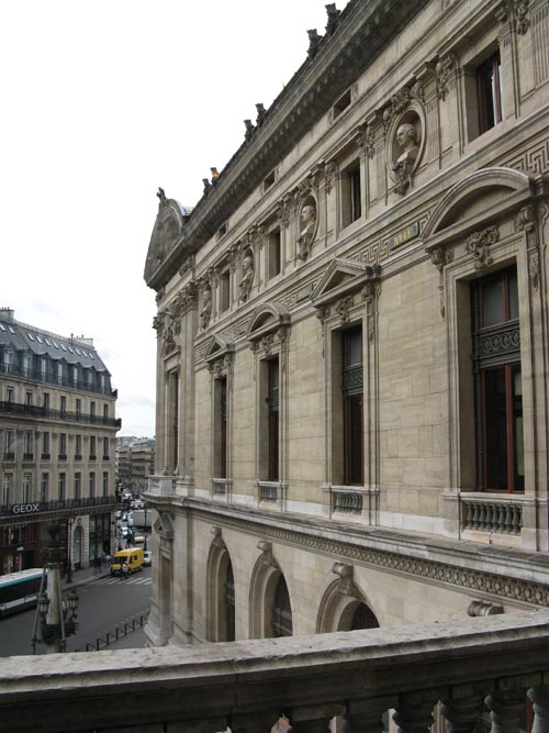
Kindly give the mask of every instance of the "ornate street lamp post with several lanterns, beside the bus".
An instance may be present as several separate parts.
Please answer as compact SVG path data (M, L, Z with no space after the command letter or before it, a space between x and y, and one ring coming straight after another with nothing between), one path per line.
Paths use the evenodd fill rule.
M61 598L60 566L65 549L59 542L60 526L58 523L52 524L47 531L51 542L46 547L46 564L34 618L33 654L36 654L36 644L45 644L46 654L66 652L67 636L75 634L78 629L78 593L71 590L68 597Z

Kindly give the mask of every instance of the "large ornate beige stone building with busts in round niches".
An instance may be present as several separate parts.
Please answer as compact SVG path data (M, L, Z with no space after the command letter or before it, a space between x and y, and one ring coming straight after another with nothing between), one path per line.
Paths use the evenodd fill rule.
M547 0L304 40L157 195L152 645L549 606Z

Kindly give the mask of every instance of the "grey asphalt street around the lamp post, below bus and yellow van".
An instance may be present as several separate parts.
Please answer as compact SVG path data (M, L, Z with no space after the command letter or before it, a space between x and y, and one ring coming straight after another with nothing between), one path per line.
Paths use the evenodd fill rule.
M145 567L126 580L103 573L79 586L79 629L68 638L67 651L82 649L100 634L114 630L124 619L148 611L150 584L150 567ZM0 656L32 654L34 617L35 609L32 609L0 620ZM37 652L44 654L45 646L38 645Z

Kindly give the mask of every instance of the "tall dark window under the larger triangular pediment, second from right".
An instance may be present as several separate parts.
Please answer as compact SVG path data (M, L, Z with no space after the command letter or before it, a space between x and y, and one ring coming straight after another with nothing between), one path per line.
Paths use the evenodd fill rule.
M363 470L362 327L341 332L344 482L361 486Z

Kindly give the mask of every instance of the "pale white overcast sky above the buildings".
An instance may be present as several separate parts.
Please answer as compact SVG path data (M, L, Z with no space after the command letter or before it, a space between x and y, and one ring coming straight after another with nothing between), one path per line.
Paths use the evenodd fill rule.
M93 338L121 435L155 434L156 191L194 206L325 25L325 0L0 0L0 306Z

